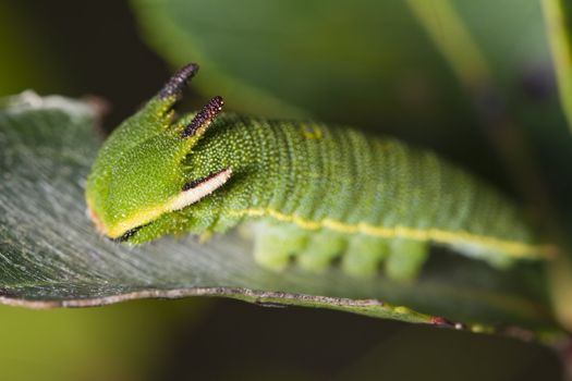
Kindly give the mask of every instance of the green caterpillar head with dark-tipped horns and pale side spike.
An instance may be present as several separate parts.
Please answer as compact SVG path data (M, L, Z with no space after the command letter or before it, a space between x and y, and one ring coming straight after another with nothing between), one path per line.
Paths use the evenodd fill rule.
M215 97L199 112L174 119L173 106L197 70L194 63L182 67L101 147L87 179L86 201L89 217L105 236L133 241L139 230L166 214L173 214L174 223L179 210L229 180L230 168L203 169L209 174L200 179L188 179L185 170L185 157L223 103Z

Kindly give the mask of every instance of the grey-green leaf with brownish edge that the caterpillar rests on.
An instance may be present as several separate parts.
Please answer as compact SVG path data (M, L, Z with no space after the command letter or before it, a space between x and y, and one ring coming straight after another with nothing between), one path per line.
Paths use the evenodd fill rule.
M0 108L0 302L45 308L226 296L548 340L558 332L540 266L496 271L435 253L411 284L293 267L271 272L236 234L126 247L96 234L83 186L98 148L88 103L26 93ZM445 319L442 319L442 318ZM518 328L518 329L515 329ZM550 336L553 337L553 336Z

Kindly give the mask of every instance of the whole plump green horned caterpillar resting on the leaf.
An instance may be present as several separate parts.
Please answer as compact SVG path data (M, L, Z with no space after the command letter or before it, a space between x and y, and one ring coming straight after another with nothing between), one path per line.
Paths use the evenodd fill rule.
M88 210L109 238L141 244L166 234L204 237L251 222L255 259L314 271L338 257L350 273L381 265L414 278L429 244L507 266L543 259L521 211L487 184L392 138L319 123L172 108L197 71L184 66L102 146Z

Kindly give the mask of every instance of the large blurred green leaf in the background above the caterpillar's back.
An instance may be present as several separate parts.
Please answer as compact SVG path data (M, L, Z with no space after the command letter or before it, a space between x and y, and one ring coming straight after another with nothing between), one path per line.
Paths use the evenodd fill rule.
M423 2L423 1L422 1ZM514 85L548 59L538 0L452 1L494 75ZM132 0L149 44L174 66L197 61L241 112L314 116L435 140L474 134L473 110L407 1ZM431 10L428 10L431 13ZM455 41L446 15L439 39ZM463 42L462 39L459 40ZM454 44L453 44L454 45ZM458 46L458 53L470 47ZM397 127L395 127L397 125ZM471 142L471 138L467 139Z

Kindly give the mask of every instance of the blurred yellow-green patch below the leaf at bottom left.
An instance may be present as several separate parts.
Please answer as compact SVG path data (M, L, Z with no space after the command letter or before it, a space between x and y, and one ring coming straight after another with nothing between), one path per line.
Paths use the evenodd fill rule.
M3 380L142 380L173 327L192 327L207 300L134 302L94 309L0 307Z

